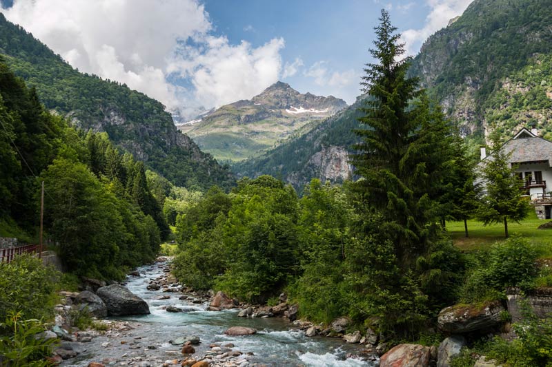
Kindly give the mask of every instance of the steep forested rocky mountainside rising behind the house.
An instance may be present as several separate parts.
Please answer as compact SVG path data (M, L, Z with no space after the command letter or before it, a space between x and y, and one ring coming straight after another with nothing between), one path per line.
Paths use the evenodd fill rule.
M411 73L464 134L482 137L494 123L505 137L528 123L551 132L551 5L475 0L424 43Z

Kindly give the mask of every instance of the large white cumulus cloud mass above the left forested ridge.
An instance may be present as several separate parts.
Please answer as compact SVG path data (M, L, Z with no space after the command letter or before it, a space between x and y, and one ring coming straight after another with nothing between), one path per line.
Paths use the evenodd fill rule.
M168 109L250 98L281 70L283 39L253 48L210 36L199 0L16 0L1 11L70 65L126 83ZM194 90L167 81L173 72Z

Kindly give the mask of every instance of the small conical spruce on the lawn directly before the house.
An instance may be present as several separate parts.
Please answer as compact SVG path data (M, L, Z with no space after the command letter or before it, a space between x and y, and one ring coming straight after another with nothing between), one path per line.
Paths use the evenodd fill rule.
M492 137L491 154L480 163L480 178L484 195L477 209L477 219L484 225L504 222L504 236L508 238L508 220L520 222L531 207L522 199L522 180L515 174L497 134Z

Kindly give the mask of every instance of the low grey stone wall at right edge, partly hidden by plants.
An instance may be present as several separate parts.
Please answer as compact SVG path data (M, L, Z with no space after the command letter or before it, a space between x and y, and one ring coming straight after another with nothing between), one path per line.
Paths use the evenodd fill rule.
M520 289L517 287L506 290L508 312L512 316L513 322L519 322L522 319L521 300L523 298L526 299L527 303L538 317L544 318L546 316L552 316L552 288L542 287L526 296L522 296L520 293Z

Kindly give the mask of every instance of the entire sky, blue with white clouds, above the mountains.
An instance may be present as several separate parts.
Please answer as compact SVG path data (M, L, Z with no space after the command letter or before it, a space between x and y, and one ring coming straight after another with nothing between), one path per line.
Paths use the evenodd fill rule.
M276 81L352 103L380 10L415 54L472 0L0 0L83 72L126 83L170 111L251 98Z

